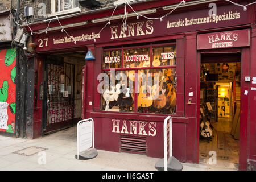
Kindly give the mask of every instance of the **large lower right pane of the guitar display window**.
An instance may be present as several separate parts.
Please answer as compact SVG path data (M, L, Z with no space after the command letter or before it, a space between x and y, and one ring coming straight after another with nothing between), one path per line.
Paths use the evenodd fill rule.
M174 114L176 106L176 69L144 69L139 74L139 113ZM146 79L145 79L146 78Z

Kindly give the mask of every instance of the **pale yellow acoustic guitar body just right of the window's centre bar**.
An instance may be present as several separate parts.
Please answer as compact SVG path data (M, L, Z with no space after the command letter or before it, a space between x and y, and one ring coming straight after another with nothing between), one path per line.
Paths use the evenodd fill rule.
M150 107L153 104L151 86L141 86L138 95L138 107Z

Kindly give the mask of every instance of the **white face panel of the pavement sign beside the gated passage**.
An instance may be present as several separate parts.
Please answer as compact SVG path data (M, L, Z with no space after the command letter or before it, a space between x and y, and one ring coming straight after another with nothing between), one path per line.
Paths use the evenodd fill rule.
M79 152L88 150L92 147L92 120L79 123Z

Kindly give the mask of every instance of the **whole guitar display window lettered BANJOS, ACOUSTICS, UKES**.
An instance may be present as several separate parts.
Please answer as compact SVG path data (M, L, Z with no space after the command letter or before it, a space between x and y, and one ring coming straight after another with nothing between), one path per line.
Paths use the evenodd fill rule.
M154 56L160 56L157 65ZM105 49L102 70L102 111L176 113L175 45Z

